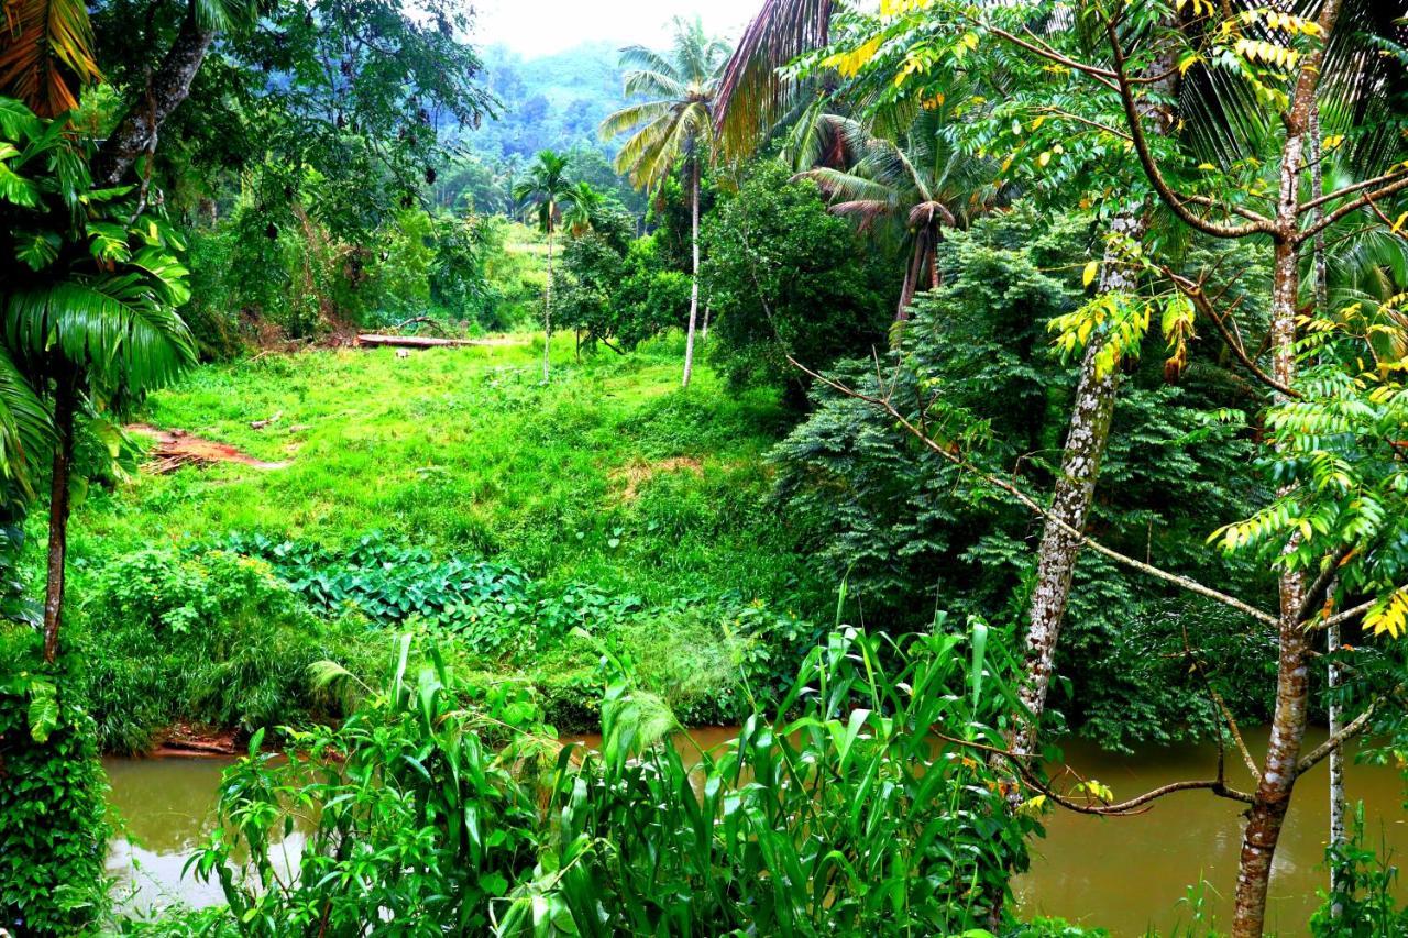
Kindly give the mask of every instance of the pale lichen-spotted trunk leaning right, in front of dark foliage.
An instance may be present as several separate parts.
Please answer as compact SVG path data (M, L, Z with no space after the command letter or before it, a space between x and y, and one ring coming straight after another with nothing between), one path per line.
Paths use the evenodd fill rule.
M1177 69L1173 65L1170 51L1160 55L1152 66L1153 75L1169 76L1153 86L1164 100L1173 100L1177 92L1177 77L1174 77ZM1152 130L1156 132L1167 132L1173 127L1171 107L1146 106L1143 113L1145 117L1153 118ZM1119 259L1118 242L1139 241L1148 225L1148 213L1142 208L1117 215L1110 223L1112 238L1101 263L1098 284L1101 293L1133 292L1138 287L1135 270ZM1011 742L1012 752L1018 755L1032 755L1038 749L1042 713L1046 710L1046 696L1055 670L1056 646L1070 599L1071 576L1080 559L1080 538L1076 532L1086 530L1090 517L1100 463L1105 455L1110 424L1115 413L1115 397L1119 390L1118 369L1111 369L1111 373L1104 376L1095 373L1095 358L1102 345L1098 337L1093 338L1081 361L1060 475L1052 490L1050 513L1036 549L1036 583L1028 611L1024 682L1019 689L1019 699L1029 715L1019 715Z

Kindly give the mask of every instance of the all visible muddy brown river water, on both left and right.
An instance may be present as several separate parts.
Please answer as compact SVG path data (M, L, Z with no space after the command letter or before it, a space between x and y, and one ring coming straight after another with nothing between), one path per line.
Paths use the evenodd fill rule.
M694 730L694 741L711 748L732 738L734 730ZM1249 734L1259 748L1262 734ZM567 737L594 745L594 737ZM1324 732L1308 739L1315 745ZM689 756L693 746L681 742ZM1081 775L1100 779L1119 799L1180 779L1211 777L1212 746L1150 748L1133 756L1111 755L1079 741L1064 745L1067 762ZM1246 784L1246 770L1229 753L1229 777ZM118 897L135 911L183 901L208 906L221 901L218 886L182 877L186 861L199 849L214 823L215 787L228 759L108 759L110 800L125 820L114 838L108 872L120 880ZM1238 772L1238 769L1240 769ZM1366 803L1370 835L1401 859L1408 851L1408 814L1402 782L1391 768L1353 765L1349 796ZM1270 918L1280 935L1305 935L1305 923L1325 887L1319 869L1328 825L1328 773L1324 766L1295 787L1281 848L1271 879ZM1188 924L1184 899L1190 884L1207 880L1208 910L1225 925L1240 849L1240 806L1207 792L1180 792L1156 803L1146 814L1100 818L1056 811L1046 817L1048 837L1033 846L1032 870L1015 883L1024 917L1060 915L1102 925L1112 935L1143 935L1150 928L1169 932ZM296 851L297 844L291 848ZM1408 890L1401 889L1401 899Z

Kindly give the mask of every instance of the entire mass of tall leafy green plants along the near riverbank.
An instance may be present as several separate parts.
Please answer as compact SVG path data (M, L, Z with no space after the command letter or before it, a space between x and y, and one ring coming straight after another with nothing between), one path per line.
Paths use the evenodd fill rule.
M1001 739L1012 663L981 624L832 632L783 701L796 720L753 713L693 766L628 662L608 655L601 751L558 751L520 684L434 652L413 677L408 648L341 728L227 773L196 872L239 934L957 934L1008 899L1038 830L986 759L929 737ZM315 830L280 870L290 806Z

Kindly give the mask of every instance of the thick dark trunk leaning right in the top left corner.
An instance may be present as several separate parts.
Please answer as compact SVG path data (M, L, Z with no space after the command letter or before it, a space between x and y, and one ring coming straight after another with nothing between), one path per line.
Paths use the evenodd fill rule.
M94 185L100 187L118 185L142 154L156 148L156 134L162 123L190 94L190 83L196 79L214 41L215 31L201 27L196 20L194 4L187 7L176 41L152 73L148 89L132 103L94 156Z

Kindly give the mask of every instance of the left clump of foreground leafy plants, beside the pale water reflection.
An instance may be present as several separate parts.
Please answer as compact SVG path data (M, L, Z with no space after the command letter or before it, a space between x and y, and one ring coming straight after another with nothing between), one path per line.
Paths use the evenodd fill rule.
M260 753L256 737L227 773L230 832L194 869L218 877L241 934L352 935L373 921L484 934L490 901L531 869L542 824L531 766L551 739L536 707L513 682L458 680L434 652L413 676L410 646L397 641L386 692L339 728L296 734L287 758ZM317 806L317 823L298 869L280 873L272 848L293 804Z

